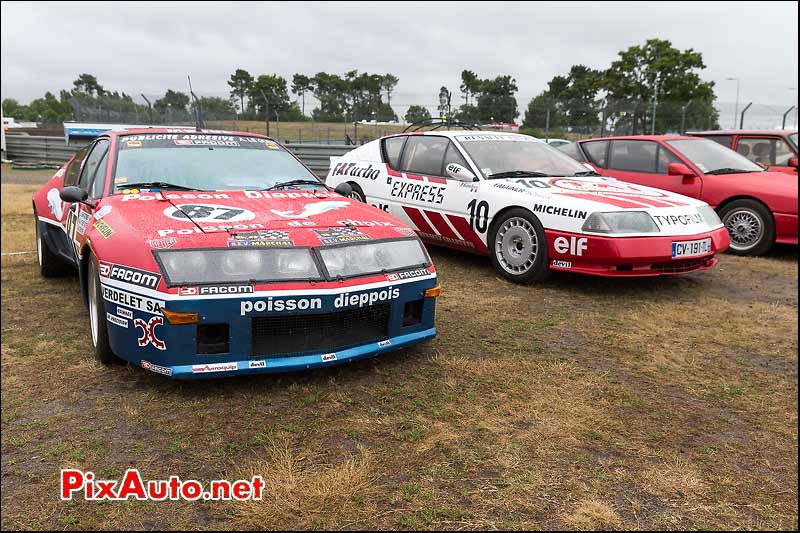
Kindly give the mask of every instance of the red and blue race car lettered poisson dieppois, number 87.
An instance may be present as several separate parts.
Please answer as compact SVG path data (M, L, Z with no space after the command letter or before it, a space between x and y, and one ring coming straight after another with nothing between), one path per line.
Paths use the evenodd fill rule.
M98 359L173 378L307 369L436 334L414 231L274 140L106 132L33 197L42 275L77 268Z

